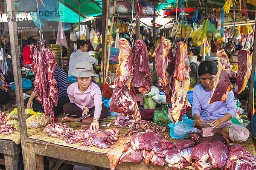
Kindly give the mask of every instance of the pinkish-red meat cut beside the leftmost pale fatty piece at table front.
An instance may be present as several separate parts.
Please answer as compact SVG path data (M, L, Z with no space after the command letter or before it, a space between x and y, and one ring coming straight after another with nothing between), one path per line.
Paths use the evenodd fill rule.
M133 150L131 147L121 156L119 164L122 162L140 162L143 160L140 150Z

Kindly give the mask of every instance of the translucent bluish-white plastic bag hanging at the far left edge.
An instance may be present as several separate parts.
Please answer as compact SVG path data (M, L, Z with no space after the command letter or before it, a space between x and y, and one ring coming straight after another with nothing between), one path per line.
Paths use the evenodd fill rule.
M6 82L14 82L12 59L9 59L6 56L6 53L3 48L1 48L0 51L0 58L3 59L0 60L0 69L3 72Z

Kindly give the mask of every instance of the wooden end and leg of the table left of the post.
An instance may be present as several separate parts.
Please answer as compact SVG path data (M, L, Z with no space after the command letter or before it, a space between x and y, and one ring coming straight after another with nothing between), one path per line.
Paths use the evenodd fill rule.
M21 144L0 139L0 153L4 154L6 170L17 170L20 160ZM32 168L33 169L33 168Z

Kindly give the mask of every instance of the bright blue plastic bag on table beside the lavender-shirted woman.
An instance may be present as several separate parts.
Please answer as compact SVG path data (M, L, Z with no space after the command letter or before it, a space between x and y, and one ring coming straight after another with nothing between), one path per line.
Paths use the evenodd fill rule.
M170 136L175 139L189 138L189 132L195 132L193 127L194 121L189 119L188 116L183 116L183 122L178 122L176 125L172 122L168 124L170 127Z

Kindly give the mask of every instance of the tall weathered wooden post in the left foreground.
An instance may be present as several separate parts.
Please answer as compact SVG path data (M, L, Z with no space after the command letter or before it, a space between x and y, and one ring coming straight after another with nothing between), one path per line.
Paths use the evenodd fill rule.
M25 150L25 141L28 138L27 129L26 129L26 116L25 116L25 107L23 100L23 89L22 89L22 77L21 77L21 69L20 69L20 59L19 59L19 48L18 47L18 34L17 34L17 23L15 16L15 0L7 0L6 6L10 21L8 22L9 32L10 32L10 42L12 49L12 66L13 66L13 74L14 74L14 82L15 82L15 95L16 102L18 108L18 116L19 116L19 125L20 125L20 139L21 139L21 147L23 154L24 165L26 164L26 150ZM26 170L26 166L25 166Z

